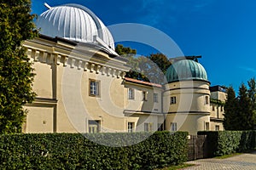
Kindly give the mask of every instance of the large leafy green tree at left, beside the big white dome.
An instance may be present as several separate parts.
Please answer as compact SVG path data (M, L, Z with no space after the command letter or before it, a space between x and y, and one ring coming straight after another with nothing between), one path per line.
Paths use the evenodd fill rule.
M0 133L20 133L32 102L32 64L21 44L38 36L30 0L0 0Z

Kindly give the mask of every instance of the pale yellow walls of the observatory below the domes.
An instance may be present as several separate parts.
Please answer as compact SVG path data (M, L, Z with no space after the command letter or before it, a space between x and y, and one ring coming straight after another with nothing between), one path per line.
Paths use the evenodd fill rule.
M219 111L215 120L212 104L206 102L211 95L209 82L172 82L162 87L127 79L125 59L61 38L40 36L23 45L35 69L33 90L38 94L25 107L24 133L172 131L175 127L195 134L218 124L223 130L224 112ZM224 94L214 95L222 99Z

